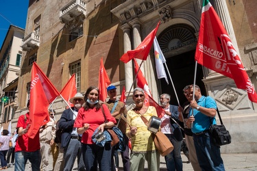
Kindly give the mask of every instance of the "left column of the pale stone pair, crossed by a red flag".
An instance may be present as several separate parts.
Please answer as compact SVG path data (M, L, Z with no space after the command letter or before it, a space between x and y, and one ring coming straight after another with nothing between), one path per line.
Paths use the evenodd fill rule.
M127 51L132 50L131 47L131 27L129 25L123 25L121 27L123 29L123 46L124 46L124 53L127 53ZM125 90L128 92L130 90L130 87L133 83L133 66L132 66L132 60L130 62L127 62L125 64Z

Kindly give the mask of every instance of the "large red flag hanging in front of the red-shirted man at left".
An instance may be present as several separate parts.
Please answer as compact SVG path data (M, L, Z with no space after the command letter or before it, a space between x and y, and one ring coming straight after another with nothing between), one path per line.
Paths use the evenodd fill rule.
M35 137L41 125L49 122L48 105L59 95L58 90L34 62L29 100L29 123L31 126L27 131L30 138Z

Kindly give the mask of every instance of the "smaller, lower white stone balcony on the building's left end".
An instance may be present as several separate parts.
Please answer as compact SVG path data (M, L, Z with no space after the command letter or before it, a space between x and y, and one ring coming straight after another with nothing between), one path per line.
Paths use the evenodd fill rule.
M35 47L39 47L39 44L40 44L39 34L32 32L31 34L23 38L21 48L23 49L23 51L30 51Z

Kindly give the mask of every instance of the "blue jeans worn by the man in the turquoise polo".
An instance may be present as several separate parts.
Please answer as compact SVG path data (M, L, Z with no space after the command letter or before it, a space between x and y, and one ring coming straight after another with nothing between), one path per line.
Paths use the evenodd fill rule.
M225 170L219 149L220 146L215 146L212 143L209 133L193 134L193 138L201 170Z

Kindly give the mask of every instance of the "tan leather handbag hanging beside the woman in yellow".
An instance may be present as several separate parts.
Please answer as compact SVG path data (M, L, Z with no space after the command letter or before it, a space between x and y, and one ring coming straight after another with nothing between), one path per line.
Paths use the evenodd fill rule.
M145 118L145 116L141 115L141 118L145 125L148 125L148 120ZM171 144L171 141L169 138L164 135L164 133L158 131L157 133L151 133L151 136L153 137L154 144L157 148L157 150L160 152L160 155L165 156L171 153L173 150L173 145Z

